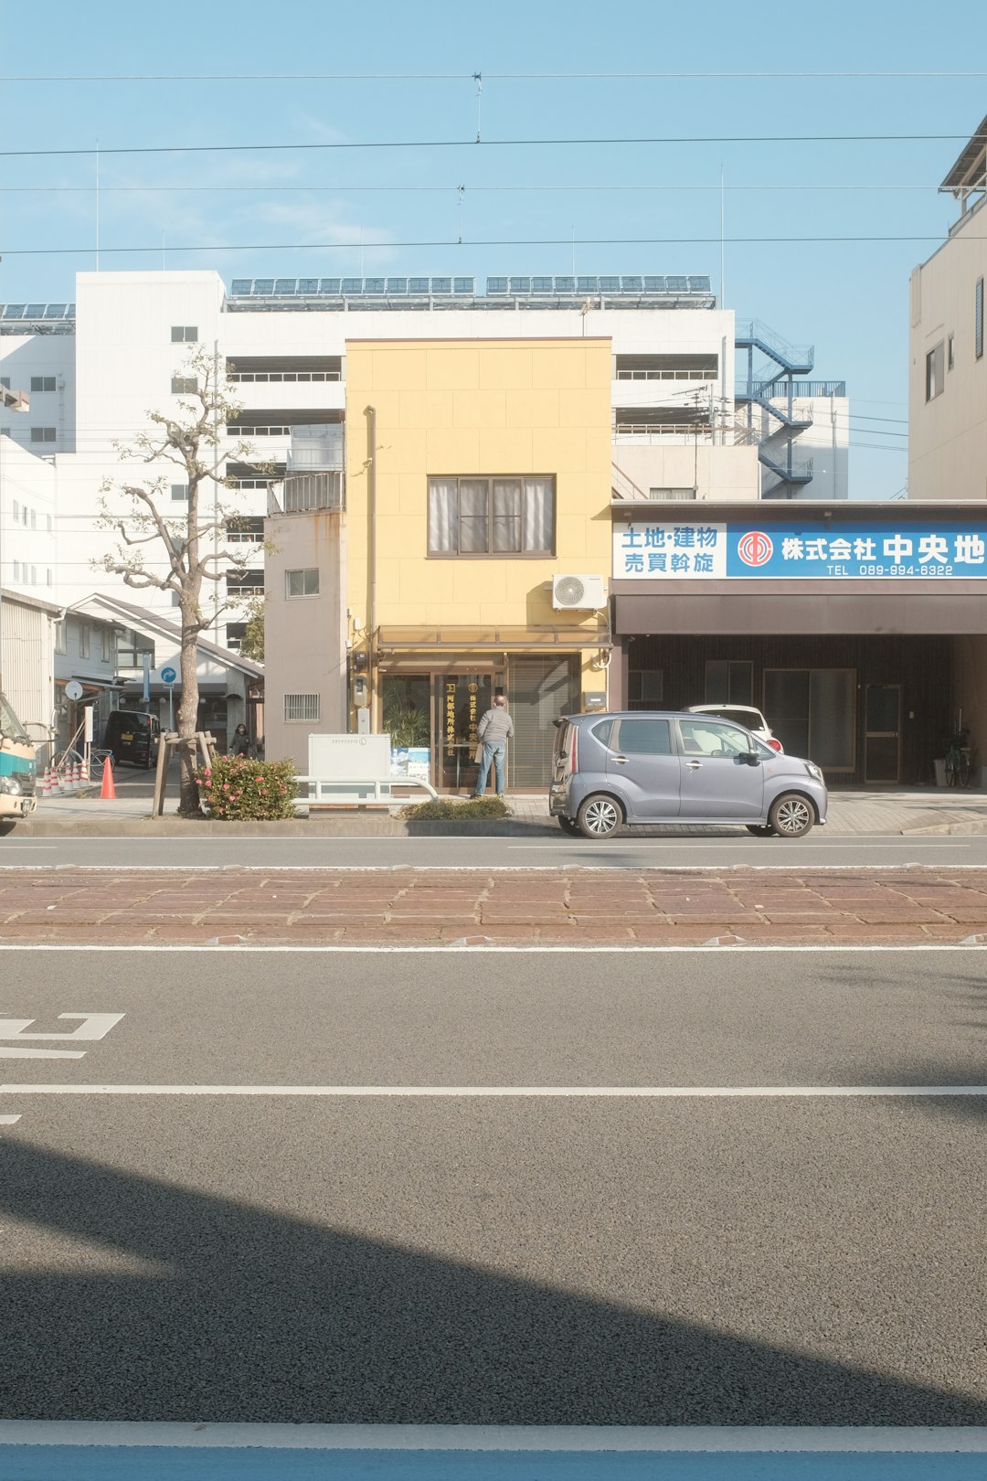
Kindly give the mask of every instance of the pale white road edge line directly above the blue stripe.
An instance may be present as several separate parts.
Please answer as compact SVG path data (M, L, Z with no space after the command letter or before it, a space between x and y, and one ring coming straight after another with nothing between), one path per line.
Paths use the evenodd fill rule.
M274 1450L568 1451L987 1451L977 1426L774 1425L191 1425L73 1419L0 1420L0 1445L167 1445Z

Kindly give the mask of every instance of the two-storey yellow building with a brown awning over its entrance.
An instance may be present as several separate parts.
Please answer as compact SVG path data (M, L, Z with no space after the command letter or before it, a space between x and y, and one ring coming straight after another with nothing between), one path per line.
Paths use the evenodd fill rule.
M442 791L474 785L497 692L515 791L545 786L552 721L605 701L610 382L608 339L346 344L351 675Z

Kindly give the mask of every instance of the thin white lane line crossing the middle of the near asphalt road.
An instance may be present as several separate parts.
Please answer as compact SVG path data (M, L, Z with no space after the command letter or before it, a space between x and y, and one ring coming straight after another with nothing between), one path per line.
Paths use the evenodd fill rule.
M845 1100L987 1096L987 1086L0 1086L0 1096L278 1096L423 1100Z

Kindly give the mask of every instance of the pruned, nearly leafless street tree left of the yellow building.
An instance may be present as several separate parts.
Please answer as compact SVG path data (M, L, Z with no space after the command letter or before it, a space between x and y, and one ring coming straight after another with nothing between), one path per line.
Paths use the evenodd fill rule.
M247 545L226 548L226 526L243 511L226 498L232 486L222 468L228 458L249 462L252 449L247 443L223 446L226 424L234 421L240 406L229 400L215 355L201 350L192 354L178 381L182 387L178 413L148 412L148 431L129 446L115 444L123 462L173 467L145 478L104 481L98 524L117 530L121 544L95 564L121 576L138 591L152 588L178 597L182 625L178 735L189 742L198 720L198 637L226 606L216 601L218 582L228 572L243 570L250 555ZM188 502L173 515L176 469L188 489ZM257 471L271 469L268 465ZM203 591L212 591L213 601L203 600ZM179 745L179 813L183 816L200 812L194 755L194 745Z

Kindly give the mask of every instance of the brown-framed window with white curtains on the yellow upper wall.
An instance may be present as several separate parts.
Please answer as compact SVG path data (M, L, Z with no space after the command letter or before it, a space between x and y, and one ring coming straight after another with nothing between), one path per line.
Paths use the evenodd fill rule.
M429 555L552 555L555 478L429 478Z

